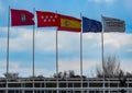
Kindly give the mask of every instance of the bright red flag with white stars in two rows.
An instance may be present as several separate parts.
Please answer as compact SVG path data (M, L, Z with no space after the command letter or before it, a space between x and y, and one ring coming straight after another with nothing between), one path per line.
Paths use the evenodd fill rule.
M37 14L37 26L58 26L59 25L59 14L46 11L36 11Z

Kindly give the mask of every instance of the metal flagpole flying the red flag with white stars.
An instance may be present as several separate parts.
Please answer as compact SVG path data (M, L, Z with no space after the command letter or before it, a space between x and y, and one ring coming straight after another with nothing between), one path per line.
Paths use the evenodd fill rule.
M33 14L35 15L35 8L33 9ZM34 74L35 74L35 72L34 72L34 49L35 49L35 47L34 47L34 45L35 45L35 24L33 24L33 88L34 88ZM34 93L34 91L33 91L33 93Z

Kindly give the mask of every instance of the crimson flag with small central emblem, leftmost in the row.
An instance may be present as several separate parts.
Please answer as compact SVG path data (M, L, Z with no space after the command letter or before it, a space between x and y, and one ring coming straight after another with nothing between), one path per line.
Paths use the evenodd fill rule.
M22 26L22 25L34 25L33 13L26 10L14 10L11 9L11 25Z

